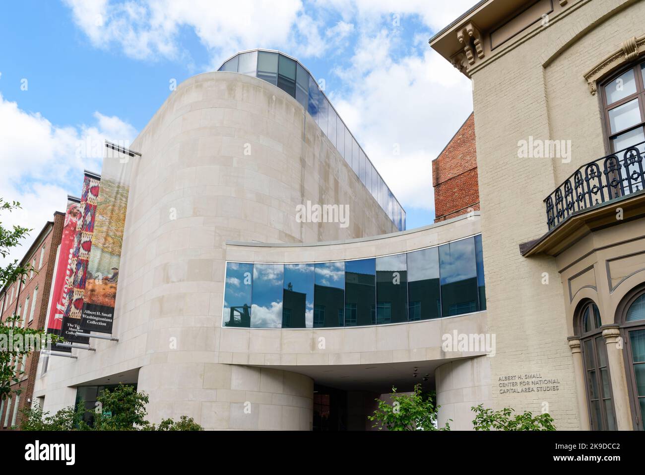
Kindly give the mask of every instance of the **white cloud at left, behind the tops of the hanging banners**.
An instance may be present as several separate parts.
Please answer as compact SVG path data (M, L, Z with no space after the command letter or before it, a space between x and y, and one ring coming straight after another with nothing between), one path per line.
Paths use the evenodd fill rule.
M0 221L3 227L33 229L7 259L0 259L0 266L22 259L54 211L65 210L66 195L80 195L83 169L101 171L104 139L127 142L136 135L132 125L117 117L95 112L94 118L92 125L57 127L0 94L0 197L22 206L3 211Z

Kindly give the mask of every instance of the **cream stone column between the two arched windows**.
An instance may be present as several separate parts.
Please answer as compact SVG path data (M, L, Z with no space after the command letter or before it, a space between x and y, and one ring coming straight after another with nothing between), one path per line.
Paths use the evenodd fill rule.
M618 430L633 430L631 426L630 396L625 377L625 364L622 355L624 342L620 336L617 325L606 326L602 336L607 345L607 361L611 377L611 390L613 406L616 411L616 425Z

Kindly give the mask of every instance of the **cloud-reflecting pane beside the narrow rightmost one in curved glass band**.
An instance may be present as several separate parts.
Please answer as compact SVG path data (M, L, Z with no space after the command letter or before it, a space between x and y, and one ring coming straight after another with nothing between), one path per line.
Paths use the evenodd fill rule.
M479 310L475 240L462 239L439 246L442 315Z

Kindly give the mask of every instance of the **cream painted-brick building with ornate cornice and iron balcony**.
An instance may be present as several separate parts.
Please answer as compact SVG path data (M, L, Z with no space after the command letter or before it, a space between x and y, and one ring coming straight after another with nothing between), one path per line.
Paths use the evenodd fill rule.
M546 409L558 428L643 427L644 14L482 1L430 40L473 81L493 404ZM557 390L497 384L534 373Z

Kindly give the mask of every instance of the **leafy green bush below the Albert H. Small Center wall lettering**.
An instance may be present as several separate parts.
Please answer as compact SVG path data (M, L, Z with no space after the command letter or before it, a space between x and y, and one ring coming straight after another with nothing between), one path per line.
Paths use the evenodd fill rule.
M555 430L553 417L548 412L533 416L525 410L523 414L515 414L513 417L515 410L510 407L494 411L480 404L470 409L476 414L473 419L475 430Z

